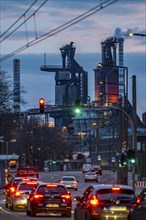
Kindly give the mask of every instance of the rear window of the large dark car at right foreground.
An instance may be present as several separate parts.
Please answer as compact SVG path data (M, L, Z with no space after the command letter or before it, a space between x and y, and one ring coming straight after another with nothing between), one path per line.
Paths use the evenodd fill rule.
M96 196L101 200L110 200L110 199L133 199L135 198L135 194L130 189L120 189L120 190L112 190L112 189L101 189L96 192Z

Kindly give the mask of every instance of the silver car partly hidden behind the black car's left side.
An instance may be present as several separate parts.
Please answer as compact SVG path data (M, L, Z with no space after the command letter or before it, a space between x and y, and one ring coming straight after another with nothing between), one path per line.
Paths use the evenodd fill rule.
M27 206L27 197L31 190L35 188L38 184L38 181L26 181L20 182L14 193L10 194L10 210L18 211L18 210L26 210Z

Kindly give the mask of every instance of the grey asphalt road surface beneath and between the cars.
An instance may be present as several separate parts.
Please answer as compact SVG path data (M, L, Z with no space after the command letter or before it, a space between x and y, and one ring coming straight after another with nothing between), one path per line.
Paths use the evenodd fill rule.
M72 201L74 196L76 195L82 195L83 191L86 189L86 187L89 184L94 184L92 183L85 183L84 182L84 176L81 171L67 171L67 172L62 172L62 171L57 171L57 172L42 172L40 173L40 180L44 182L58 182L63 175L73 175L77 178L78 182L78 191L70 190L71 195L72 195ZM99 176L99 183L114 183L116 182L116 173L115 172L110 172L110 171L103 171L103 175ZM39 220L45 220L45 219L53 219L53 220L73 220L73 213L74 213L74 207L75 207L75 202L73 201L73 208L72 208L72 217L71 218L64 218L61 216L49 216L38 214L36 217L33 217L33 219L39 219ZM5 195L1 194L0 195L0 219L1 220L32 220L32 217L26 216L26 213L24 211L19 211L19 212L12 212L9 209L5 208Z

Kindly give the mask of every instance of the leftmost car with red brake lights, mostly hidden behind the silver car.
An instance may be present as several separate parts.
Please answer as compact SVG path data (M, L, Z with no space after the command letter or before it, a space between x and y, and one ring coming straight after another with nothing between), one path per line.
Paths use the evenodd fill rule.
M16 190L16 187L20 182L29 182L29 181L38 181L38 178L36 177L13 177L11 181L7 184L5 187L6 189L6 203L5 207L10 208L10 196L13 194Z

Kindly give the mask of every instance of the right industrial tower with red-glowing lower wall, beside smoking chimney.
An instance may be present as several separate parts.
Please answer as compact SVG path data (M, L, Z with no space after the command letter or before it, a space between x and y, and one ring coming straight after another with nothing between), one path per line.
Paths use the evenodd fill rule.
M127 67L123 66L123 38L111 37L101 42L102 63L95 71L95 102L98 106L125 104ZM117 46L119 62L117 64Z

